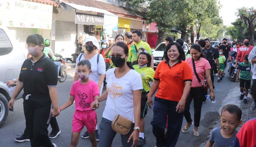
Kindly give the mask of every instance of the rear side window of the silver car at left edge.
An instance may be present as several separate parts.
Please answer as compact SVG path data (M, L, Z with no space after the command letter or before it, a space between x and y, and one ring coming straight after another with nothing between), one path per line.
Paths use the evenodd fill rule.
M0 56L11 53L13 47L11 41L3 29L0 29Z

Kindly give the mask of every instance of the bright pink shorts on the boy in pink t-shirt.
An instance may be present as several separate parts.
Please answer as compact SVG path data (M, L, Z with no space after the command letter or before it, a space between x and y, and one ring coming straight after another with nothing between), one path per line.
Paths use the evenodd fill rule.
M72 122L72 131L81 132L85 126L89 133L93 133L96 127L96 119L95 111L82 112L76 110Z

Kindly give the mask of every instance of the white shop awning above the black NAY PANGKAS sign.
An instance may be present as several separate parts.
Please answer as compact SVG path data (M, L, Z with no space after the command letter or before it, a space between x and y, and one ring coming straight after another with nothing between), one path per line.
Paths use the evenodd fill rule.
M77 9L77 10L80 10L80 11L92 11L92 12L98 12L98 13L104 13L104 14L107 14L107 15L110 15L110 16L116 16L115 14L107 11L107 10L103 10L103 9L99 9L99 8L94 8L94 7L88 7L88 6L83 6L83 5L76 5L76 4L72 4L72 3L67 3L67 2L64 2L65 4Z

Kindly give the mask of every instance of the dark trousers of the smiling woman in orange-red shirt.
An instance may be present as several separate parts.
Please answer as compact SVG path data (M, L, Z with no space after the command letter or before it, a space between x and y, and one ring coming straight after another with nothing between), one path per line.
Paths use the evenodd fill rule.
M164 100L155 97L154 114L151 120L153 126L153 134L156 137L157 147L174 147L180 135L182 127L183 112L176 112L178 102ZM167 123L168 115L168 123ZM167 123L167 137L165 137L164 128Z

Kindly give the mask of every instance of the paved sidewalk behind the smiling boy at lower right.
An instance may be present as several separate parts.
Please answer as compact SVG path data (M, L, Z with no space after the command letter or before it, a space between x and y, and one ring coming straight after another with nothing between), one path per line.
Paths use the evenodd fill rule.
M242 125L245 124L245 122L247 122L251 118L256 117L256 111L255 110L251 111L251 104L253 102L253 98L252 98L251 94L248 93L248 97L247 97L247 102L248 103L247 104L243 103L243 100L239 100L240 94L241 94L241 92L239 90L239 85L238 85L238 86L234 87L232 90L229 91L228 96L222 101L222 106L219 109L219 114L220 114L222 107L227 105L227 104L234 104L234 105L239 106L241 108L241 110L242 110L241 120L243 122L239 127L237 127L236 130L238 130L238 131L241 129ZM216 121L215 123L216 124L215 124L214 128L221 127L220 120ZM207 137L208 140L210 139L211 132L212 132L212 130L210 131L210 133ZM207 140L207 142L208 142L208 140ZM200 147L205 147L207 142L202 143L200 145Z

